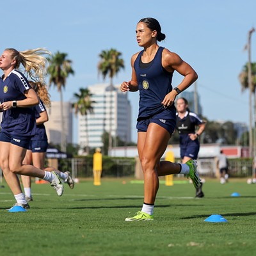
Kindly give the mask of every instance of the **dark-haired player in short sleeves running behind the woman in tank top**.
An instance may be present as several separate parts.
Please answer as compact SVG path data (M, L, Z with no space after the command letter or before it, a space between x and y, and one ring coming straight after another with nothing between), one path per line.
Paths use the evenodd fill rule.
M205 122L196 114L189 111L188 100L179 98L176 100L176 129L180 136L180 158L182 163L191 159L196 160L200 150L199 136L204 132ZM198 130L196 131L196 127ZM202 191L202 182L200 187L196 188L196 197L204 197Z

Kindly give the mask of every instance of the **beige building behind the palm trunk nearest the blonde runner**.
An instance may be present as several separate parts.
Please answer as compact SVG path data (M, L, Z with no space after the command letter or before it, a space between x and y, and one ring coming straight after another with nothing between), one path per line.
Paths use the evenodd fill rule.
M45 122L48 141L61 144L61 131L65 133L66 143L72 143L72 104L63 102L63 127L61 125L60 101L52 101L51 108L47 109L49 121Z

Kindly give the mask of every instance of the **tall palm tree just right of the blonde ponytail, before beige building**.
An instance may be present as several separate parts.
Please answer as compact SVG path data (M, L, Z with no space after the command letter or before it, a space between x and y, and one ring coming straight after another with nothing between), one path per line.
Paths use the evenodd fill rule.
M65 125L64 125L64 118L63 118L63 94L62 88L65 88L67 77L70 74L74 74L74 70L71 67L72 61L67 60L67 53L64 52L56 52L56 54L52 55L51 58L48 58L49 67L48 67L48 74L50 76L49 79L49 86L54 84L57 87L58 92L60 92L60 116L61 116L61 150L66 152L67 148L67 141L66 141L66 134Z

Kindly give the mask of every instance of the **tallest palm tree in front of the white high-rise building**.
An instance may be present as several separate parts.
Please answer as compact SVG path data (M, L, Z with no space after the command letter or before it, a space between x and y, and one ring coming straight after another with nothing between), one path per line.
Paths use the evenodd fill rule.
M118 74L121 68L124 68L124 60L120 58L121 52L116 49L109 51L102 51L99 54L100 61L98 64L98 71L102 74L103 79L109 76L110 79L110 104L109 104L109 152L112 148L112 134L111 134L111 119L112 119L112 92L114 90L113 77Z

